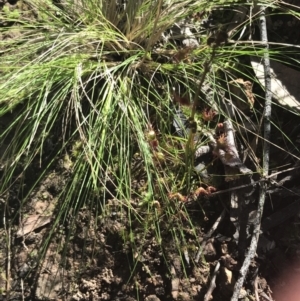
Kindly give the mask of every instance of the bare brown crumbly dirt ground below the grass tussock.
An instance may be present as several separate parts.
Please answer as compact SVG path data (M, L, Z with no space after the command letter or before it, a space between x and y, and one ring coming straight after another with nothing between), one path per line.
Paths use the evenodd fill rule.
M20 1L0 0L0 7L13 11L23 6ZM276 27L276 35L273 31L271 38L277 41L278 35L284 35L289 43L292 39L299 43L299 30L286 31L287 27L299 28L299 21L293 22L274 20L280 28ZM274 110L274 116L280 116L281 129L300 147L299 117L282 114L279 109ZM5 122L2 119L0 123ZM276 129L272 141L283 150L272 148L271 158L275 159L271 160L282 158L282 166L299 165L286 155L285 141ZM28 181L33 182L39 173L37 164ZM182 216L174 216L182 225L184 245L175 239L176 223L160 216L160 243L153 236L155 227L147 229L142 222L130 220L128 212L113 198L106 201L101 212L99 208L74 209L56 223L53 216L58 214L58 197L70 176L67 162L60 158L31 192L30 202L22 204L14 187L1 196L0 300L230 300L242 261L232 238L235 229L228 214L227 194L204 196L201 202L183 205L193 222L191 227L184 210ZM278 176L276 183L283 185L270 183L264 232L241 300L300 300L299 177L296 169ZM143 214L137 204L133 207ZM208 237L223 211L224 218ZM7 223L7 214L14 217L11 224ZM199 245L203 251L197 261ZM205 299L210 288L214 288L212 297Z

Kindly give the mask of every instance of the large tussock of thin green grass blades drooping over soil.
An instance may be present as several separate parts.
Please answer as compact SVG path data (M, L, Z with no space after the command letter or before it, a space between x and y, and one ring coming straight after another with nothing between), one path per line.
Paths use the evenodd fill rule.
M182 253L190 247L183 220L191 232L194 227L181 197L200 180L191 179L192 136L171 135L173 88L195 104L204 80L226 90L229 81L246 76L237 58L262 52L249 44L208 45L205 32L198 36L199 47L183 52L162 40L176 22L224 7L221 1L121 2L23 1L21 17L6 14L7 25L0 29L9 37L0 41L0 116L7 120L0 134L0 193L11 206L13 189L22 208L60 166L65 176L53 231L71 209L76 216L87 207L91 218L104 218L114 199L126 212L129 227L120 237L131 248L141 247L135 228L144 229L144 237L155 233L163 244L163 223ZM237 110L234 122L244 128L245 113ZM194 117L195 111L194 105L187 114ZM198 119L207 126L201 115ZM252 158L259 170L255 154Z

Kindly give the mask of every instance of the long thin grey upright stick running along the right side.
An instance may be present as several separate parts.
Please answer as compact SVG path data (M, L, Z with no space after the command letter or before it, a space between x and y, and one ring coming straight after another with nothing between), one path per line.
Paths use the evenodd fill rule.
M270 154L270 145L267 141L270 140L270 132L271 132L271 102L272 102L272 93L271 93L271 72L270 72L270 58L269 58L269 46L268 46L268 37L267 37L267 25L266 25L266 17L265 17L265 7L260 7L260 34L263 45L265 46L265 52L263 57L264 71L265 71L265 110L264 110L264 142L263 142L263 176L266 177L269 173L269 154ZM257 222L254 225L254 230L252 234L252 239L250 243L250 247L247 253L247 256L244 260L244 263L240 269L239 278L234 286L233 295L231 297L231 301L238 301L239 294L241 288L244 284L245 277L247 275L251 260L254 258L258 238L260 233L260 225L261 225L261 217L263 213L263 207L266 198L267 191L267 183L263 182L260 185L259 190L259 202L257 208Z

